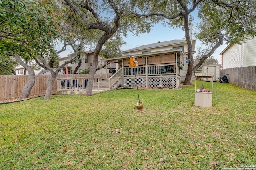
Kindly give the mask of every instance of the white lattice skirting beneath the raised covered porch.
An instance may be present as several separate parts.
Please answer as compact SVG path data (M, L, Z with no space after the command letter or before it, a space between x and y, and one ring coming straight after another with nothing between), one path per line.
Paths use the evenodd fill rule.
M177 78L178 83L180 82ZM138 85L146 87L146 78L137 78ZM128 87L136 86L135 78L124 78L124 84ZM176 78L175 77L156 77L148 78L148 87L158 88L159 85L162 85L163 88L177 88L176 87Z

